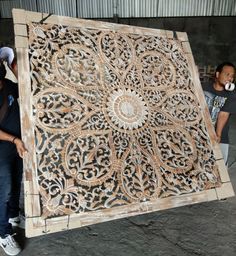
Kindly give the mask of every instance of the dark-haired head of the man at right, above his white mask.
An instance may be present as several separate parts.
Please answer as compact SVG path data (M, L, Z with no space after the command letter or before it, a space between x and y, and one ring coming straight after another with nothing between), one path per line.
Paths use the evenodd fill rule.
M235 66L231 62L223 62L215 72L215 85L218 89L225 88L227 83L233 83L235 79Z

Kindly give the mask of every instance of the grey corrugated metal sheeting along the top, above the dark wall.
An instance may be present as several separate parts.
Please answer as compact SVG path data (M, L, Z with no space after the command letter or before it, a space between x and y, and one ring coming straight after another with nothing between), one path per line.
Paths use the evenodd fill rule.
M1 18L12 8L80 18L236 16L236 0L0 0Z

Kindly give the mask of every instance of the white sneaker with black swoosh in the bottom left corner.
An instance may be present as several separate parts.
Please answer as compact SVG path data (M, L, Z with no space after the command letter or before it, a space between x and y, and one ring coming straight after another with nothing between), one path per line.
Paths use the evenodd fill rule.
M7 255L17 255L21 252L19 244L15 241L13 235L6 235L4 238L0 237L0 245Z

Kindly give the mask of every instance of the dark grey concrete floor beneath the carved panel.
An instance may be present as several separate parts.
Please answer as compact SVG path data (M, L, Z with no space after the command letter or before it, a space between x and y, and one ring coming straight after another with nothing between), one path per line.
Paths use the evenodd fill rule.
M236 191L236 116L231 124L229 175ZM30 239L17 231L21 256L235 256L236 197Z

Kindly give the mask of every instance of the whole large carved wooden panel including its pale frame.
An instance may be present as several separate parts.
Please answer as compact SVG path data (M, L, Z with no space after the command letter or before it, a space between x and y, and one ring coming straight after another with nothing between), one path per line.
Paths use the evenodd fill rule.
M233 195L185 33L13 16L27 236Z

